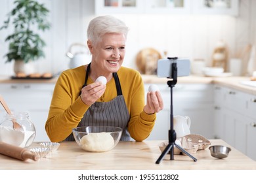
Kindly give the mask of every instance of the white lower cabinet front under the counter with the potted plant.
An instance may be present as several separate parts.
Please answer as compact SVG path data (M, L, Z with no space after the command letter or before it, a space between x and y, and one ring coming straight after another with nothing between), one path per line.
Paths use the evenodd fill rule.
M13 112L28 112L35 125L35 141L49 141L45 132L54 84L0 84L0 94ZM1 111L1 110L0 110ZM1 119L5 112L1 112Z

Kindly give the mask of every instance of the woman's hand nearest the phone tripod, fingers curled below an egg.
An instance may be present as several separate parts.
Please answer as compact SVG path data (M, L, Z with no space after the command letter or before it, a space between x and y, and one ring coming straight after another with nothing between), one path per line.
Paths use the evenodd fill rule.
M161 93L148 92L146 95L146 105L144 106L144 112L147 114L153 114L159 112L163 109L163 99L161 98Z

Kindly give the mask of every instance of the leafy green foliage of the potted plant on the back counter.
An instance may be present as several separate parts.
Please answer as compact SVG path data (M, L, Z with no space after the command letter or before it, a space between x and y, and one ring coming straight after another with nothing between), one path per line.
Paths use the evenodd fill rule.
M1 29L7 29L12 25L13 32L7 36L9 42L9 52L5 55L6 62L14 60L14 72L18 73L15 64L29 63L39 58L45 57L43 47L45 41L35 32L50 29L51 25L47 21L49 10L45 5L36 0L16 0L14 8L7 14L8 18L3 23ZM24 71L21 71L24 72Z

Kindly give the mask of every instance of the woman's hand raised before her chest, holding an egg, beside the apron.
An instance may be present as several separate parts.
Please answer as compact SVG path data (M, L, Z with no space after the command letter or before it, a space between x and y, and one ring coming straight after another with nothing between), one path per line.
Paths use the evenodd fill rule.
M101 82L94 82L82 88L81 99L86 105L92 105L95 103L105 92L106 84Z

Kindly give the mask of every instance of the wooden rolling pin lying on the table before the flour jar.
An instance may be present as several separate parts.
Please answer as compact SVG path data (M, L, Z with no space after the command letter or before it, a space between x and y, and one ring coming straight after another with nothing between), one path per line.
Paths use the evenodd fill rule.
M33 159L33 161L37 161L39 159L38 155L33 154L33 152L28 149L7 144L5 142L0 142L0 154L20 159L22 161L26 161L26 159Z

